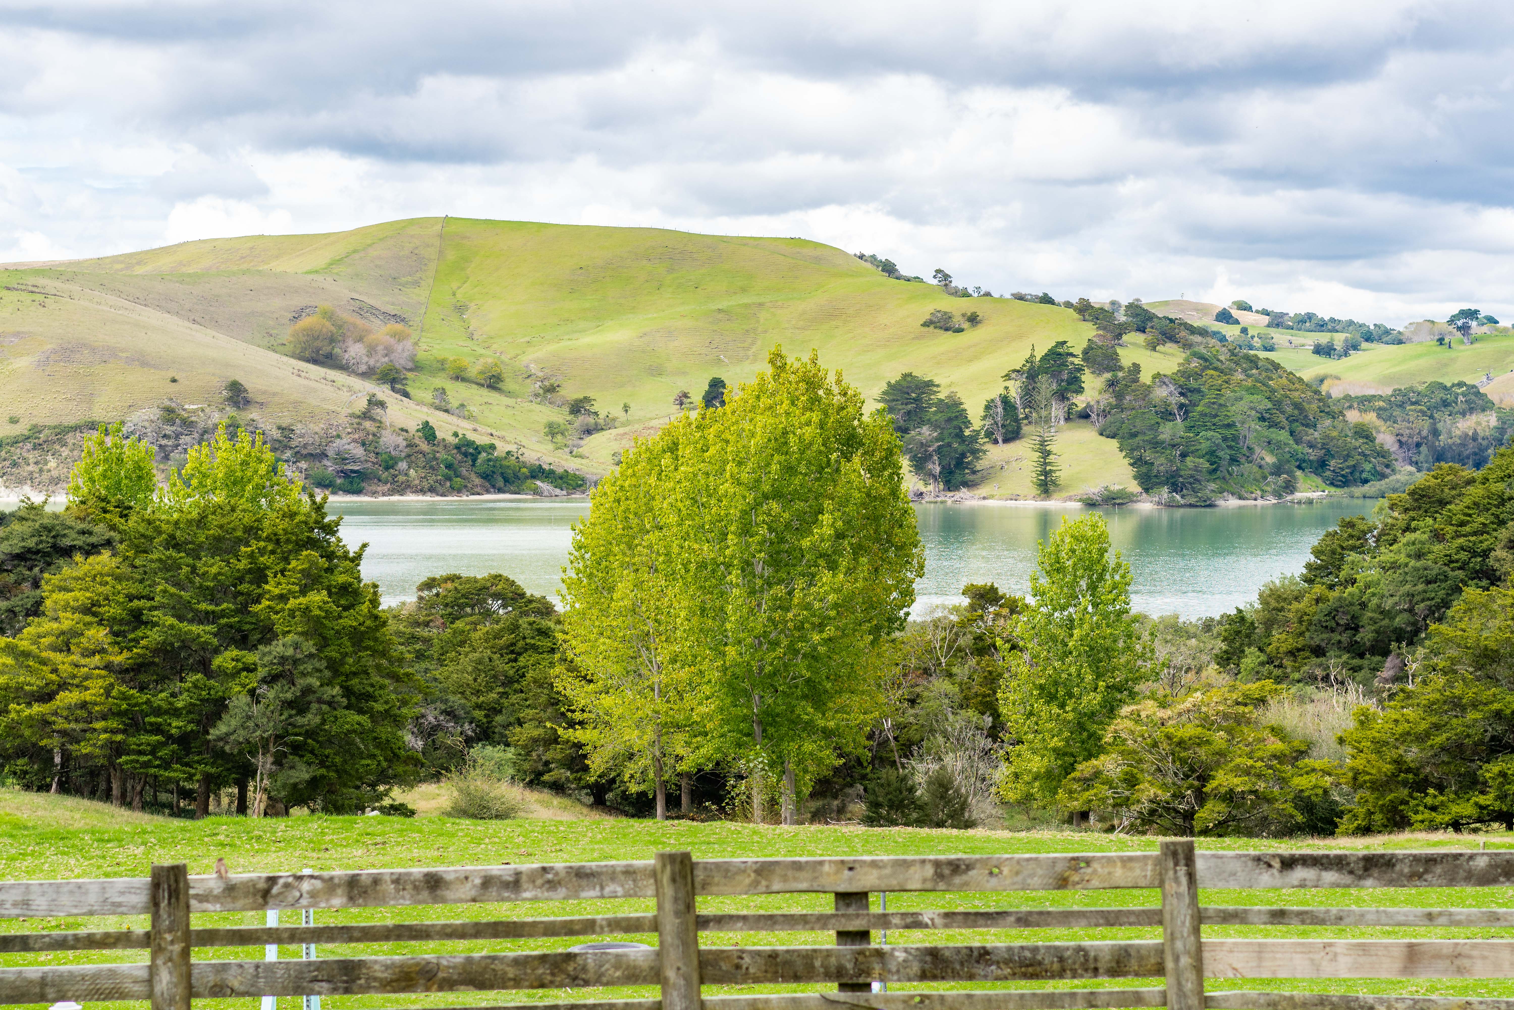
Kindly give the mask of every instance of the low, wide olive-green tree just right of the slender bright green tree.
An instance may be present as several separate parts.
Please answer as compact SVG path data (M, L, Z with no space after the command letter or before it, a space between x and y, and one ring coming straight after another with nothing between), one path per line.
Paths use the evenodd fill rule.
M1093 810L1116 830L1195 834L1288 831L1331 784L1329 762L1263 725L1258 706L1281 694L1270 681L1155 690L1120 712L1105 753L1067 777L1057 800Z

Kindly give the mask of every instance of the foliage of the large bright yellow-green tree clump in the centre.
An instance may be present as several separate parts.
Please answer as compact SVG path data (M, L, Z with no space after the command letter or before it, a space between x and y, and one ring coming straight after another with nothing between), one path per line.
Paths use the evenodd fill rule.
M563 690L597 769L724 765L763 819L864 747L922 566L883 412L812 354L637 444L574 531Z

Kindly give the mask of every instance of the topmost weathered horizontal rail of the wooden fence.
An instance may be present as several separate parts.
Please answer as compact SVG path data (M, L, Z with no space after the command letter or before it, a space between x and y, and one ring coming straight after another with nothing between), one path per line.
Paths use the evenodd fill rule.
M1196 853L1204 887L1490 887L1514 853ZM695 863L698 895L1158 887L1154 853L872 856ZM656 898L651 863L547 863L189 878L191 912ZM0 883L0 918L147 915L145 878Z

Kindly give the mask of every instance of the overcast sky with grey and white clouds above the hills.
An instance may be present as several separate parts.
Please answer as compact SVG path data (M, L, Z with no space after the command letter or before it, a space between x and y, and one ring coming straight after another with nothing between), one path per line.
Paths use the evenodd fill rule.
M0 260L403 217L1514 316L1514 5L0 0Z

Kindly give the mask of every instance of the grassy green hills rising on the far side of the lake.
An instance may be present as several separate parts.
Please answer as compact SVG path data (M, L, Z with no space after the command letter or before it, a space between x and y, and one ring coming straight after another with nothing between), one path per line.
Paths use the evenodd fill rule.
M749 379L775 345L790 354L816 350L869 397L902 371L930 376L977 413L1033 345L1067 339L1081 347L1093 332L1058 306L967 303L933 285L890 280L805 239L463 218L206 239L9 268L0 270L0 436L29 424L115 419L167 397L215 403L221 385L238 379L251 392L248 412L268 424L341 418L354 400L378 392L391 422L428 418L587 474L606 472L616 450L665 422L677 392L698 395L712 376ZM406 323L419 348L409 383L415 400L288 357L291 321L316 304L375 326ZM1163 306L1179 318L1213 310L1149 307ZM980 326L963 333L921 326L934 309L964 307L983 316ZM1332 362L1279 342L1276 357L1301 374L1346 379L1361 369L1372 382L1467 371L1473 356L1478 377L1514 365L1514 338L1506 347L1491 338L1453 351L1428 345L1441 357L1416 357L1425 347L1373 347ZM1151 351L1134 341L1122 356L1148 376L1181 359L1176 348ZM498 389L448 379L453 357L498 360L506 379ZM544 427L565 413L533 395L542 379L556 380L565 397L593 397L618 427L589 438L574 457L554 448ZM471 421L431 409L436 388L465 401ZM1087 422L1073 422L1064 445L1067 492L1129 482L1114 442ZM1026 494L1019 451L993 450L975 489Z

